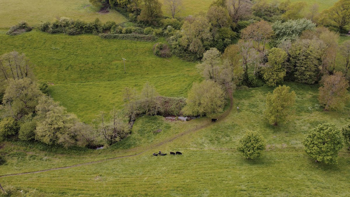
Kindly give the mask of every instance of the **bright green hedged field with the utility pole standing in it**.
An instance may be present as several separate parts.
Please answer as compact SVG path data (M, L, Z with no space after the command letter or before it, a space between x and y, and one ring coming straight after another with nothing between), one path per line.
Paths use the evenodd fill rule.
M160 95L186 97L192 83L201 80L195 63L156 57L154 44L38 30L8 36L0 31L0 54L25 53L36 65L37 79L51 83L54 100L85 122L113 106L123 108L125 87L141 90L149 81ZM126 59L126 74L121 58Z

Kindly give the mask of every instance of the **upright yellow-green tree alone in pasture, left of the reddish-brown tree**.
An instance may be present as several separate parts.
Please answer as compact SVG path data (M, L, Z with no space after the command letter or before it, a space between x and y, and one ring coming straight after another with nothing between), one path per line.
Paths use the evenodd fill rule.
M295 92L288 86L278 86L266 96L265 117L270 124L284 121L295 103Z

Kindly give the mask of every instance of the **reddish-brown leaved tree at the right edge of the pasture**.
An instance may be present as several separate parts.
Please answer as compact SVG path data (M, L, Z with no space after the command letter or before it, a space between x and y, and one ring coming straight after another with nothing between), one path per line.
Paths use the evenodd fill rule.
M334 75L325 77L323 86L319 88L318 101L324 105L325 110L341 108L349 99L348 87L342 72L335 72Z

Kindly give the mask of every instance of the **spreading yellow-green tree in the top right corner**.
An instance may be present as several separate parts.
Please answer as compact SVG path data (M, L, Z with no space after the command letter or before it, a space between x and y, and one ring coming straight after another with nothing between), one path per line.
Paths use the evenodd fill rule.
M327 17L342 31L346 25L350 24L350 0L339 0L333 7L329 8Z

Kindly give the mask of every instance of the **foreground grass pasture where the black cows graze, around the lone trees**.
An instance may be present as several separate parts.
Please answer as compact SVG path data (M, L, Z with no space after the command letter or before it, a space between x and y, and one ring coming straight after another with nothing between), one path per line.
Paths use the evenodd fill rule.
M344 148L337 165L315 163L303 151L301 140L319 123L347 124L350 105L326 112L315 108L317 86L287 85L297 94L296 104L290 120L277 127L267 124L262 115L265 95L273 88L260 87L237 90L234 106L240 106L240 113L233 110L216 123L209 118L190 122L169 122L160 116L139 118L132 134L108 149L45 150L38 144L3 143L0 151L11 153L0 175L146 152L69 169L2 177L1 184L5 189L35 188L43 196L349 196L350 152ZM204 124L210 126L154 146ZM153 134L157 129L162 132ZM248 161L235 150L246 129L259 131L267 140L260 159ZM183 155L152 156L158 150L182 151Z

